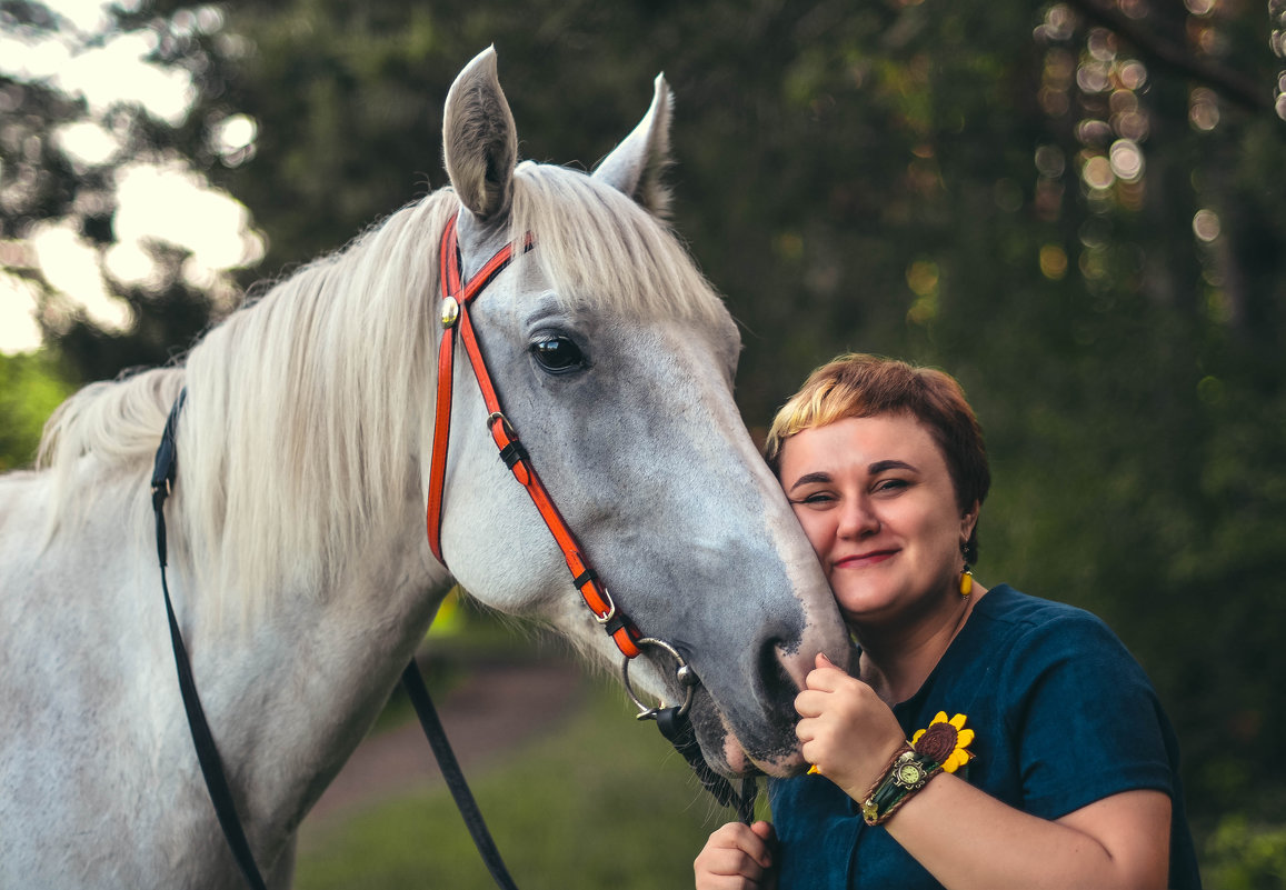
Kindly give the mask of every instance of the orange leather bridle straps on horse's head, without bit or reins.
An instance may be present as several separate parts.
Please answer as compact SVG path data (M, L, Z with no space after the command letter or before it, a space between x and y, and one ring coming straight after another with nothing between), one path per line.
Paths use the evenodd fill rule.
M527 235L523 252L530 251L534 246L532 237ZM554 536L558 549L562 550L567 570L572 576L572 584L594 613L594 619L603 625L603 630L612 638L621 653L633 658L639 653L637 640L642 638L642 634L629 619L617 611L611 594L599 583L598 575L581 553L576 536L550 500L540 476L531 466L531 457L500 408L500 399L495 394L491 374L487 372L482 350L478 347L477 336L473 332L469 304L512 260L513 244L505 244L473 278L464 282L454 216L442 232L442 241L439 246L439 269L441 270L442 286L442 341L437 350L437 405L433 418L433 457L430 463L428 508L426 512L428 545L433 552L433 558L445 566L446 559L442 558L442 493L446 487L446 450L451 431L453 373L455 369L457 332L459 332L458 338L469 358L473 377L477 379L482 401L486 404L487 430L500 453L500 459L531 496L536 511Z

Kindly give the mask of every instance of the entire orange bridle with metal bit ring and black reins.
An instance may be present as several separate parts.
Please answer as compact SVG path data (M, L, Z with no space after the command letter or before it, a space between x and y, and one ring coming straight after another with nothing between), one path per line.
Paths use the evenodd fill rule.
M535 239L529 234L523 241L522 252L526 253L535 247ZM567 568L572 575L572 584L580 592L581 598L594 615L594 620L616 643L624 656L621 678L625 691L639 709L638 719L656 720L661 733L674 745L675 750L692 767L701 785L724 806L736 806L738 818L750 823L754 817L757 787L754 778L742 782L741 791L736 791L724 777L710 769L701 749L696 741L696 733L688 720L688 711L692 706L694 688L700 679L684 661L683 656L670 643L662 639L644 637L612 601L607 588L599 583L589 561L580 550L576 536L571 532L567 522L562 518L558 508L554 507L549 493L531 466L531 458L526 448L518 440L517 432L511 426L508 418L500 408L491 374L487 372L486 361L478 347L477 337L473 332L473 323L469 320L468 306L504 269L513 261L513 244L505 244L496 252L468 282L463 280L460 269L460 252L457 234L457 217L453 216L442 232L439 246L439 268L441 270L441 322L442 340L437 354L437 403L435 406L433 426L433 454L430 463L428 507L426 511L426 525L428 531L428 545L433 557L446 566L442 558L442 495L446 478L446 450L450 441L451 427L451 395L453 376L455 363L455 333L464 343L464 351L473 365L473 376L482 392L486 404L487 430L499 449L500 459L513 473L514 478L527 490L532 503L553 534ZM215 745L213 734L206 720L201 698L197 695L195 680L193 679L192 664L186 647L183 642L183 633L175 616L174 604L170 598L170 586L166 581L166 523L165 502L172 491L177 476L177 448L176 433L179 414L186 399L186 388L179 392L170 417L166 421L161 445L157 449L156 464L152 472L152 507L156 514L157 558L161 565L161 588L165 593L166 616L170 625L170 639L174 648L175 666L179 673L179 688L183 696L184 710L188 715L188 728L192 733L193 745L197 751L197 760L206 782L206 790L213 804L215 814L222 828L228 846L237 860L237 866L251 890L264 890L266 884L255 862L255 855L249 848L240 817L233 799L231 788L228 783L222 759ZM682 705L670 707L648 707L634 693L630 686L629 665L630 660L640 655L640 647L652 646L667 652L676 662L675 675L679 686L684 691ZM446 738L437 711L430 698L424 678L419 671L415 660L403 671L403 686L408 698L415 709L421 727L428 738L430 747L437 759L451 797L473 837L475 846L482 857L484 863L502 890L517 890L517 885L509 876L508 868L500 858L500 853L491 840L491 833L482 819L477 801L473 799L460 770L451 745Z

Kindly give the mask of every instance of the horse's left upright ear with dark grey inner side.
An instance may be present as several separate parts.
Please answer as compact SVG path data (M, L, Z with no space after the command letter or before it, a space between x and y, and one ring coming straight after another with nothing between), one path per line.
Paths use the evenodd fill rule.
M518 135L495 72L494 46L478 53L446 94L442 156L455 194L480 221L509 212Z

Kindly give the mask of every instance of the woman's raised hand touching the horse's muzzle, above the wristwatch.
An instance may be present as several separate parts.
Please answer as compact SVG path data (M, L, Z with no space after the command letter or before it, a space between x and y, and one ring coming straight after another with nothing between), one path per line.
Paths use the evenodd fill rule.
M859 803L905 742L898 718L874 689L824 655L817 656L795 710L804 759Z

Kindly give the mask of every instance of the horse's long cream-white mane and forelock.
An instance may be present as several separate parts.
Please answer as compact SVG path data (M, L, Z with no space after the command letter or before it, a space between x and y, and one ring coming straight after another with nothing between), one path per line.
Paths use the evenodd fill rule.
M435 192L233 313L181 365L72 396L39 459L58 480L59 512L91 458L136 475L145 534L141 493L186 386L171 504L190 571L239 620L279 592L327 589L381 518L424 496L428 455L415 449L432 435L437 238L458 207L449 188ZM530 256L570 305L721 325L734 355L736 329L687 251L615 189L525 162L511 233L527 232L539 244Z

